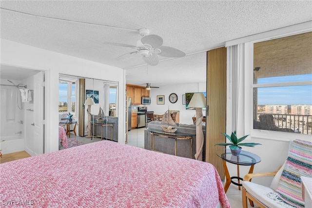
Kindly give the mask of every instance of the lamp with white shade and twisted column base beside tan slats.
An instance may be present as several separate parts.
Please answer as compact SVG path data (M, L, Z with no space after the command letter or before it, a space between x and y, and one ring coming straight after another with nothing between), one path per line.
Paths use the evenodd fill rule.
M202 151L204 146L204 134L203 134L203 112L202 108L206 106L206 98L203 93L194 93L190 103L188 104L189 107L194 107L196 110L196 154L195 159L202 161Z

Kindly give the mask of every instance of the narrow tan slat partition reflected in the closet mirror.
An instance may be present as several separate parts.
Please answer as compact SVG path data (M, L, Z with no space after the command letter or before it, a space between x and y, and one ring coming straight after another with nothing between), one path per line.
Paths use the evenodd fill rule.
M86 99L85 95L85 79L79 79L79 109L78 110L78 135L84 137L84 107L83 104Z

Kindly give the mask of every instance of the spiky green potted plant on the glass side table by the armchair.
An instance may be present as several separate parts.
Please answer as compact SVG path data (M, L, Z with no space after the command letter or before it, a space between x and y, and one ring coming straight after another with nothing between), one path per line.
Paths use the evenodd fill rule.
M249 135L245 135L239 139L237 139L236 131L232 132L231 136L225 133L222 133L226 138L230 140L231 143L219 143L215 145L219 146L230 146L231 152L234 156L237 156L240 154L240 151L242 149L241 146L255 146L255 145L261 145L259 143L241 143L244 139L246 139Z

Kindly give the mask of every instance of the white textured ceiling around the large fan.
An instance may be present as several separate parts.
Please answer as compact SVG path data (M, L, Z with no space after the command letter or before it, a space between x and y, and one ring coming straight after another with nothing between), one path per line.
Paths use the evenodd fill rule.
M205 73L205 55L192 54L312 20L311 0L1 0L0 7L1 39L124 68L127 83L152 85L205 82L205 76L198 76ZM160 57L157 66L147 66L140 55L115 60L134 50L103 42L136 45L140 28L148 28L163 38L163 45L177 48L187 57L172 61Z

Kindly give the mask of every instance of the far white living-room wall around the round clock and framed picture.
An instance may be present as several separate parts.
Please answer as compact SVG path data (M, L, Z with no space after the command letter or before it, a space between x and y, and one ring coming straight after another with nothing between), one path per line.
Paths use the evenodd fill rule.
M195 110L186 110L185 104L182 104L182 95L186 92L206 92L206 83L189 83L189 84L178 84L178 85L167 85L161 86L159 88L151 88L150 97L151 104L146 105L149 111L154 111L154 113L163 114L168 110L179 110L180 111L180 121L181 124L193 124L192 117L195 115ZM170 103L169 95L171 93L176 93L178 99L175 104ZM157 104L157 95L165 96L165 104ZM203 111L203 115L206 112Z

